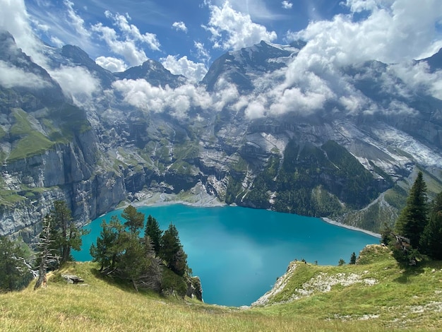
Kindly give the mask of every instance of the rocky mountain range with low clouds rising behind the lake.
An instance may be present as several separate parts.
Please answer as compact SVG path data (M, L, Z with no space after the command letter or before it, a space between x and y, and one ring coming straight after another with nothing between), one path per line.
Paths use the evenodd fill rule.
M82 49L32 59L0 32L0 235L122 203L220 201L392 225L417 171L442 190L442 50L403 64L261 42L199 83L149 59L112 73Z

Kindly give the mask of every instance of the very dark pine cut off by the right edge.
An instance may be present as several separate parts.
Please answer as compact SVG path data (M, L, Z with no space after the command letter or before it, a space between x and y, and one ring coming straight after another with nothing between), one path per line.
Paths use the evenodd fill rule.
M424 254L442 260L442 192L431 203L429 222L422 233L420 246Z

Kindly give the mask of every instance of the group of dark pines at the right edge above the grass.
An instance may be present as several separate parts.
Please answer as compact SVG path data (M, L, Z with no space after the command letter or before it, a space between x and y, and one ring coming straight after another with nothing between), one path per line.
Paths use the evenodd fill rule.
M385 227L381 241L400 263L414 264L422 255L442 260L442 192L429 202L422 172L417 174L394 230Z

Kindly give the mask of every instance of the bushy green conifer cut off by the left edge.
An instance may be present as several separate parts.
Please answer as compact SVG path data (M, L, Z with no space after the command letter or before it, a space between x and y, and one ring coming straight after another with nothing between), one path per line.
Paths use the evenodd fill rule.
M0 290L20 290L32 275L25 262L25 253L17 244L0 237Z

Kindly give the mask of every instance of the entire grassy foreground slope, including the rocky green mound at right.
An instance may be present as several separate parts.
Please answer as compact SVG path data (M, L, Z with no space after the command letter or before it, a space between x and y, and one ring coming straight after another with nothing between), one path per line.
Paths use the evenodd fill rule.
M100 278L95 263L73 263L46 288L0 295L0 331L436 331L441 265L402 271L380 246L356 266L293 262L265 305L240 309L136 293ZM67 284L62 273L85 284Z

